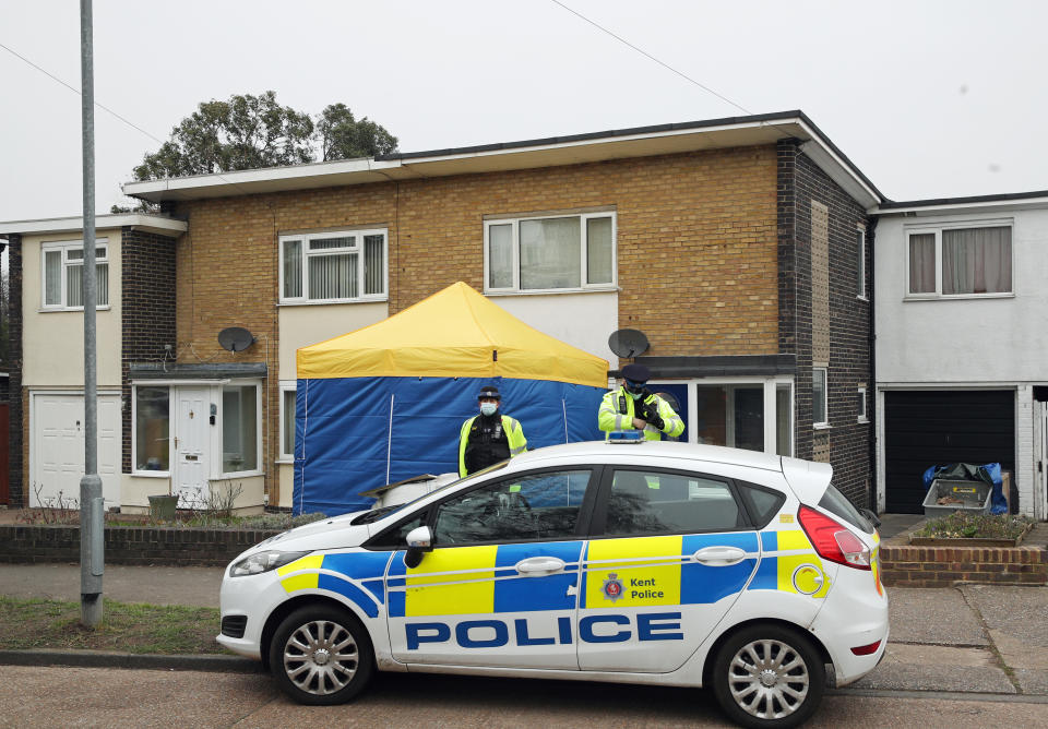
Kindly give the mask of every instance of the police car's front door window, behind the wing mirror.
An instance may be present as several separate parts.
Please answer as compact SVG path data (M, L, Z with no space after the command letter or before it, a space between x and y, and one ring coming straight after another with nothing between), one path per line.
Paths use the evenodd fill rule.
M449 499L437 511L436 546L573 537L591 476L588 469L528 474Z

